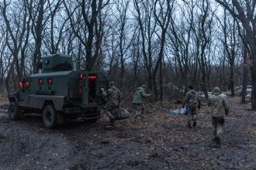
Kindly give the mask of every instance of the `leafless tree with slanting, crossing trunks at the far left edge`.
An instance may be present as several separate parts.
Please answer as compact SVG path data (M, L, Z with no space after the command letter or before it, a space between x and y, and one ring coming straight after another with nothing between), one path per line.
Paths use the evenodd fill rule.
M4 0L3 5L1 6L1 12L5 21L6 26L6 44L12 53L12 62L10 65L9 72L7 73L6 80L5 80L5 86L9 92L9 77L14 75L14 68L16 68L16 73L18 76L18 80L22 77L22 70L24 70L24 60L25 55L24 51L26 49L28 39L29 39L29 22L30 18L28 16L28 8L26 5L26 1L22 1L19 4L19 7L16 6L16 9L19 8L19 10L16 10L16 12L19 12L19 14L12 13L12 15L19 15L18 17L9 17L9 10L8 7L10 5L10 2L7 3L6 0ZM17 4L18 5L18 4ZM10 21L9 18L14 19L13 21ZM25 39L25 42L23 40ZM19 54L21 55L21 65L19 64ZM14 77L12 77L14 78ZM16 79L14 79L16 80Z

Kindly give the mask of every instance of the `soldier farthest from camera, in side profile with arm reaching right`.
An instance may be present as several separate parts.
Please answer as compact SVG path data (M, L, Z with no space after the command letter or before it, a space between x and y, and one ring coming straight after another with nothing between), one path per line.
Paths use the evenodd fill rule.
M150 97L151 94L146 93L146 85L143 84L138 87L136 92L133 94L133 106L135 107L135 112L133 113L133 122L140 117L140 121L144 117L144 98Z

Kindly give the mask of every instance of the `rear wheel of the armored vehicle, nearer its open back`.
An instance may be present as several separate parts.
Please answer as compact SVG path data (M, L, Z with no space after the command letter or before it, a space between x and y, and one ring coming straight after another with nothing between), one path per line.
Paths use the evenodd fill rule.
M43 109L43 124L46 128L54 128L57 123L57 113L52 105Z

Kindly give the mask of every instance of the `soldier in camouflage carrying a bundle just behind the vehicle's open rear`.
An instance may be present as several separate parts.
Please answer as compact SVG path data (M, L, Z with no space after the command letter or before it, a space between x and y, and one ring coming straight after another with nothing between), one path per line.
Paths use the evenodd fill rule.
M115 116L112 114L120 105L120 90L114 86L113 82L109 83L109 89L106 91L106 105L104 107L105 114L109 117L110 125L115 125Z

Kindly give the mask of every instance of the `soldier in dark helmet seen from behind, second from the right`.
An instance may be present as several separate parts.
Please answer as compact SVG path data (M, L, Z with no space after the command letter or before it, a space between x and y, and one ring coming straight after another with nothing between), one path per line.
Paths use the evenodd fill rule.
M199 100L198 93L192 86L189 86L189 91L185 94L182 107L186 108L188 128L192 128L191 125L195 127L197 124L196 107L200 109L201 102Z

